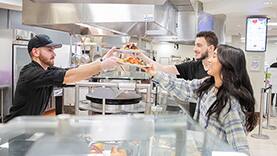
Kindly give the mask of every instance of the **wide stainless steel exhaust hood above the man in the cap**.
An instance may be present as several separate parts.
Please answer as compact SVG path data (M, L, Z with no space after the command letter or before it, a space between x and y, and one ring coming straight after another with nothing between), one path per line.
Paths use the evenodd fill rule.
M97 0L83 1L84 3L71 3L70 0L49 3L57 1L23 0L23 24L96 36L145 37L176 33L176 18L174 18L176 9L170 2L155 5L149 2L160 4L164 1L152 0L148 4L141 4L143 1L133 4L135 0L128 1L132 4L99 4L97 2L100 1ZM127 3L127 0L125 2Z

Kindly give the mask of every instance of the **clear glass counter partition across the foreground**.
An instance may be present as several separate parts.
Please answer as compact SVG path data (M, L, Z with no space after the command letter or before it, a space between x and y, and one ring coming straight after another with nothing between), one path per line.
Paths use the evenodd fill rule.
M234 152L185 114L20 117L1 126L0 138L1 156L108 156L114 149L128 156Z

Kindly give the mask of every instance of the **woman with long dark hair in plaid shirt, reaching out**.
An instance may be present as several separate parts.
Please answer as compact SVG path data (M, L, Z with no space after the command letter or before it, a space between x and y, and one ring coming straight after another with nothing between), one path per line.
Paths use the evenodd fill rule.
M255 99L241 49L219 45L208 60L204 79L186 81L145 69L154 81L182 100L197 100L194 115L199 124L236 151L249 153L246 134L253 130Z

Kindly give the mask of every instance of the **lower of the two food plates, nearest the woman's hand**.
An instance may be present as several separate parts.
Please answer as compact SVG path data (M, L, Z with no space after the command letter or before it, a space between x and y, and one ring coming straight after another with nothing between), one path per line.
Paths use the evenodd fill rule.
M135 56L128 56L126 58L119 59L118 62L124 65L136 66L139 68L150 67L149 64L145 63L142 59Z

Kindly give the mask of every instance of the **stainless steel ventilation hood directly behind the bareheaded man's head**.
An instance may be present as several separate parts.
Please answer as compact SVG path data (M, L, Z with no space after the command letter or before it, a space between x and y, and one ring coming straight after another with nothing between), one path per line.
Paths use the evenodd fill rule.
M219 43L225 43L226 15L211 15L203 12L203 4L197 0L170 1L178 8L176 35L153 36L151 37L153 42L192 45L198 32L213 31Z

